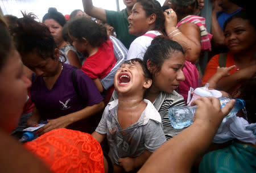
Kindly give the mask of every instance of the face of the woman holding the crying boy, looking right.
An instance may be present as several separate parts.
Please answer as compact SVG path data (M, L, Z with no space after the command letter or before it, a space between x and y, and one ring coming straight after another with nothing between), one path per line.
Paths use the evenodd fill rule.
M152 88L158 91L172 92L180 85L180 81L185 80L183 67L185 64L184 54L175 51L171 56L163 62L163 65L156 74Z

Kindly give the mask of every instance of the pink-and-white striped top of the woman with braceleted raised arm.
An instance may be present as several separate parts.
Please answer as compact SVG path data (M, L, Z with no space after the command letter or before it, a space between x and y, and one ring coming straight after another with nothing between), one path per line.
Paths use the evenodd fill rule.
M210 40L212 40L212 34L208 33L207 28L205 28L205 18L196 15L188 15L181 19L180 22L177 23L176 27L181 26L183 23L196 24L196 26L198 26L201 31L201 49L207 51L212 50L212 46L210 44Z

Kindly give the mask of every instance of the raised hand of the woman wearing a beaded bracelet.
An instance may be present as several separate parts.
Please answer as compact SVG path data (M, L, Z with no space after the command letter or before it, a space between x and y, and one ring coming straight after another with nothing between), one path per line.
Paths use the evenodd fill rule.
M169 29L171 29L172 27L176 28L176 24L177 24L177 15L176 12L172 9L168 9L166 11L164 11L164 16L166 18L165 22L164 22L164 28L166 28L166 33L169 33Z

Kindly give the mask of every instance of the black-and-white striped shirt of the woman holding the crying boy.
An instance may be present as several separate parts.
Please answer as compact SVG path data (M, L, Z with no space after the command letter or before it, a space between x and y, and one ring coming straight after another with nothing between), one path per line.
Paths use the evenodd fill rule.
M118 99L117 92L113 92L112 98L110 102ZM180 133L184 129L174 129L168 119L168 109L173 106L185 106L185 102L183 96L178 94L176 91L172 93L160 92L155 102L153 103L154 107L160 113L163 125L164 135L167 140L175 137L178 133Z

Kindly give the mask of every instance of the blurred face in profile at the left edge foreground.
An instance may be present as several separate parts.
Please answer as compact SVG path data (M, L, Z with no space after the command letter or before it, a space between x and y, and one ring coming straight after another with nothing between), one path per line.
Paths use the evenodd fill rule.
M11 50L0 71L0 81L0 127L10 133L18 125L27 99L27 89L31 86L23 73L23 64L16 50Z

